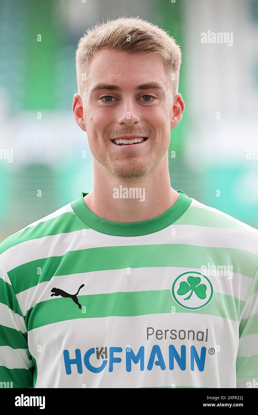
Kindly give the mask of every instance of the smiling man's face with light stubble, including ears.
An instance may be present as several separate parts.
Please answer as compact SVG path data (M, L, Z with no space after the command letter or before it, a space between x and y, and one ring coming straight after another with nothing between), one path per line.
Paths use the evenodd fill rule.
M166 154L170 130L183 112L181 95L175 98L172 111L168 76L156 56L101 49L89 63L87 88L81 99L75 94L73 110L93 157L118 178L139 178ZM138 137L144 141L113 141Z

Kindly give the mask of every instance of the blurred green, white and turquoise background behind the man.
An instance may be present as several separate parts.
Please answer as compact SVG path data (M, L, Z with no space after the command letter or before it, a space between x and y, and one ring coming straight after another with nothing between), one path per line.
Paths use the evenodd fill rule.
M171 131L171 186L258 228L258 0L6 0L0 242L92 190L87 134L72 114L77 42L98 21L137 15L182 51L186 108ZM212 43L212 32L227 37Z

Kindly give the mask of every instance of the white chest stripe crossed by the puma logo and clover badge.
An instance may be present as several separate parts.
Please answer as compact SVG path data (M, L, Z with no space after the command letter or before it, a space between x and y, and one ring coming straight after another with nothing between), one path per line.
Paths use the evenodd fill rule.
M79 296L115 293L118 291L128 293L133 291L170 290L174 279L181 273L187 271L197 271L207 275L201 269L170 266L132 268L130 269L130 274L127 273L126 268L84 272L54 276L49 282L44 281L18 293L17 300L22 309L22 314L26 315L27 310L34 307L36 303L60 298L55 296L51 297L51 289L53 287L61 288L70 294L75 294L80 285L84 284L84 287L78 294ZM219 276L219 272L217 271L217 276L208 276L208 278L211 280L215 292L224 295L233 295L240 300L246 300L252 283L251 278L237 273L233 274L232 279L228 279L227 276Z

